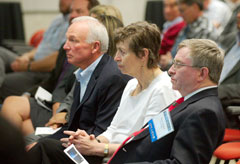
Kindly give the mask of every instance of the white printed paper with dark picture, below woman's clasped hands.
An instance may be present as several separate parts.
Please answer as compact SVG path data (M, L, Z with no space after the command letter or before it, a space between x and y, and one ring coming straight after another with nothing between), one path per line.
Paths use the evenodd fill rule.
M89 164L73 144L64 149L64 153L76 164Z

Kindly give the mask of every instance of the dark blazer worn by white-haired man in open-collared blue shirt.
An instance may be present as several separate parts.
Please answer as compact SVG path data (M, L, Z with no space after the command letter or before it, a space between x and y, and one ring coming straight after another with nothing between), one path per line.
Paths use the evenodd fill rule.
M89 80L81 103L77 82L68 124L50 138L68 137L63 134L64 130L82 129L95 136L104 132L118 109L123 90L130 78L120 72L112 57L104 54Z

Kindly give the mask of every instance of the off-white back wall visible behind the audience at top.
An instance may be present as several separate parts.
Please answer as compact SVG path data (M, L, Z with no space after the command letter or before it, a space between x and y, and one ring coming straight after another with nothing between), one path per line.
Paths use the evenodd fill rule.
M0 0L0 2L21 2L26 41L39 30L46 29L51 20L59 14L58 0ZM148 0L99 0L101 4L118 7L122 13L124 25L144 20Z

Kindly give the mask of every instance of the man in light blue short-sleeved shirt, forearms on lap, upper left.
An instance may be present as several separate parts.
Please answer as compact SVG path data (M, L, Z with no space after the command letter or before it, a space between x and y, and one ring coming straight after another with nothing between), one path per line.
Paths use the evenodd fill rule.
M7 96L21 95L46 78L54 68L57 51L66 40L71 2L72 0L59 0L62 15L52 22L37 48L17 57L13 52L0 47L0 103Z

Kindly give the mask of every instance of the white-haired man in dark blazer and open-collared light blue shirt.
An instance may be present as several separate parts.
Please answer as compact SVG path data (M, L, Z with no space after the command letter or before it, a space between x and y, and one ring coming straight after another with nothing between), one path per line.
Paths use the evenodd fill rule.
M66 36L64 49L68 62L80 68L75 72L77 82L73 93L74 101L68 124L50 138L41 139L30 150L29 153L36 156L39 164L68 161L63 153L62 142L58 140L68 137L64 130L83 129L95 136L105 131L130 79L121 74L112 57L104 54L108 49L108 34L106 28L95 18L75 18Z

